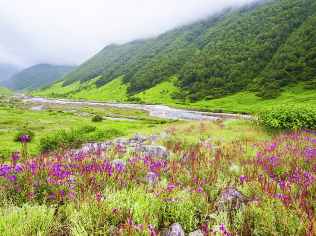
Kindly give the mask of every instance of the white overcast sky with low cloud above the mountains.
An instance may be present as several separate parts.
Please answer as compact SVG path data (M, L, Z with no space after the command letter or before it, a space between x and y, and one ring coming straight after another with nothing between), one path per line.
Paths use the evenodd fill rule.
M0 63L79 65L110 43L157 36L254 0L0 0Z

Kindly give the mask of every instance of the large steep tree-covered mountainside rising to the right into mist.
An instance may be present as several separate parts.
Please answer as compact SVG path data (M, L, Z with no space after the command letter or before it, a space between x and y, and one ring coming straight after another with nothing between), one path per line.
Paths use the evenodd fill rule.
M293 86L315 89L315 25L315 0L257 1L156 38L106 46L37 94L148 102L156 91L186 104L245 92L275 99Z

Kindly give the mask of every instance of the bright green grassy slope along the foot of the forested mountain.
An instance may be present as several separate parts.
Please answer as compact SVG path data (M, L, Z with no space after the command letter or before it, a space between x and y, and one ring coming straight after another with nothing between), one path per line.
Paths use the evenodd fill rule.
M95 78L97 79L97 78ZM95 85L92 85L93 81L83 83L82 85L90 85L87 90L82 90L77 94L71 94L70 98L76 99L88 99L88 100L102 100L102 101L121 101L127 98L126 96L126 87L128 85L121 84L122 78L117 78L108 84L102 86L101 88L95 88ZM45 91L37 91L31 93L31 95L49 95L52 92L58 91L58 93L67 93L71 90L76 89L79 86L79 82L73 83L66 87L61 87L62 82L53 85L51 88ZM224 112L251 112L258 108L262 108L269 105L281 104L281 103L300 103L310 107L316 108L316 93L315 90L305 90L303 85L305 83L299 83L295 87L285 87L285 91L281 93L276 99L262 100L260 97L257 97L255 92L242 92L232 96L227 96L220 99L214 100L201 100L195 103L190 103L188 100L184 104L179 100L174 100L171 98L171 93L176 92L179 88L173 85L172 81L165 81L153 88L150 88L145 91L145 94L141 92L135 96L140 97L142 101L146 104L165 104L168 106L180 107L180 108L194 108L194 109L206 109L206 110L215 110L218 108L223 109ZM120 89L121 87L121 89ZM161 94L160 92L163 92ZM168 91L168 93L167 93Z

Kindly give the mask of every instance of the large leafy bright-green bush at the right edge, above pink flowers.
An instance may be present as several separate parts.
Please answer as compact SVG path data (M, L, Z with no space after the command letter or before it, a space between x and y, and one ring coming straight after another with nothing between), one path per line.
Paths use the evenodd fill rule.
M285 104L268 107L257 112L265 126L285 129L316 128L316 109L302 105Z

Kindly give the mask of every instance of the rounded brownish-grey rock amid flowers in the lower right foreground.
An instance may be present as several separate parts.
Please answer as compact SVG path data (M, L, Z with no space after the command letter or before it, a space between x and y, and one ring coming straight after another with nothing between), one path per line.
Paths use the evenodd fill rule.
M242 209L243 204L246 203L244 196L235 189L224 189L218 195L217 209L228 209L229 211L235 209Z

